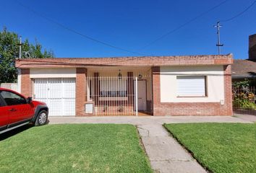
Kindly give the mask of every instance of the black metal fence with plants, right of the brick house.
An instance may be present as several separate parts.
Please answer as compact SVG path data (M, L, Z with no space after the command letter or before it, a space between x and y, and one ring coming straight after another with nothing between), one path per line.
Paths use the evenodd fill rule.
M233 87L234 114L256 115L255 87Z

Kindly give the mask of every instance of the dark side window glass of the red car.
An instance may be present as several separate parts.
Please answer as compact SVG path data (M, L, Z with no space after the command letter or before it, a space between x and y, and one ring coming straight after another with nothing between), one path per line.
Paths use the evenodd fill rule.
M13 92L1 91L0 94L8 106L27 104L25 98Z

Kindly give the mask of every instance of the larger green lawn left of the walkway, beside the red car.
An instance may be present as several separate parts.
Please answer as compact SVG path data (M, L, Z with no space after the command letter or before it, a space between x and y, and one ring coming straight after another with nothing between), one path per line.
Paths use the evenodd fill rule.
M0 172L152 172L133 125L44 125L0 142Z

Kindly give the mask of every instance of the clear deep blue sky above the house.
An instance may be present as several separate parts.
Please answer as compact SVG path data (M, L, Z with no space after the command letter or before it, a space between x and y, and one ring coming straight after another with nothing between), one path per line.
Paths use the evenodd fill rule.
M254 0L229 0L212 12L163 37L147 48L145 45L207 11L223 0L19 0L36 12L73 30L127 50L155 56L217 54L218 20L242 12ZM256 4L242 16L223 22L222 54L247 58L248 36L256 33ZM14 0L1 1L0 27L6 26L54 51L56 57L139 56L87 40L25 9Z

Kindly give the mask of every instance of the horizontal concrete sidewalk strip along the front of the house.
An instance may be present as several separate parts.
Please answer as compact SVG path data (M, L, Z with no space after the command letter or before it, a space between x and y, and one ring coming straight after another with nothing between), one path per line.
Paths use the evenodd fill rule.
M242 120L230 116L107 116L107 117L48 117L50 124L63 123L115 123L148 125L164 123L251 123L248 120Z

